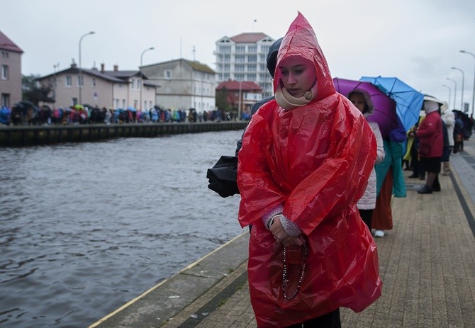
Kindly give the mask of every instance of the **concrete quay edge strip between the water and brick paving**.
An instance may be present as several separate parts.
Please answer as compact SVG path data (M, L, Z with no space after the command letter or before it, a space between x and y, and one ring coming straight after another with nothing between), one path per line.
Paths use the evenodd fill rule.
M249 233L244 232L89 328L162 326L247 261L248 244Z

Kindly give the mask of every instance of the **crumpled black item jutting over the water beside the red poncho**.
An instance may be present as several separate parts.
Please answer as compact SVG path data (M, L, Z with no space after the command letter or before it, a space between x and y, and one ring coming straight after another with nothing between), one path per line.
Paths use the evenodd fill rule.
M221 156L218 162L206 171L208 188L223 198L239 193L237 176L238 157L235 156Z

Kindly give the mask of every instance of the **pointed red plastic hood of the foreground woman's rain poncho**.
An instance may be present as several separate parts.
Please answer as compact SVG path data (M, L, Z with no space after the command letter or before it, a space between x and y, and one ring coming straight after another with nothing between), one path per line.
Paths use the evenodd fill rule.
M276 67L287 57L300 56L313 62L317 74L317 96L313 101L319 101L330 94L335 94L335 86L328 69L327 60L318 44L317 37L312 26L299 12L291 23L289 30L282 39L277 55ZM274 92L279 88L281 72L276 69L274 75Z

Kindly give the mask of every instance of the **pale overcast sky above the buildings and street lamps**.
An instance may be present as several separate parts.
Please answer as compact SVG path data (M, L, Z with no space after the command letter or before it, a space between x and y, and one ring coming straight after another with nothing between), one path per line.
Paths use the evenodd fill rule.
M415 89L460 107L474 90L474 0L15 0L4 1L0 30L24 51L22 74L51 74L101 63L138 69L184 57L215 69L215 42L223 36L286 33L301 11L313 26L333 77L398 77ZM195 51L193 51L195 50Z

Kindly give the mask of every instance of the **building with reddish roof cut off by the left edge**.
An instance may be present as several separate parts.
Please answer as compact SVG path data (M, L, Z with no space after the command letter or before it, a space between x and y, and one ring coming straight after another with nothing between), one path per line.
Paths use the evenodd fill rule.
M21 101L21 55L23 50L0 31L0 106Z

